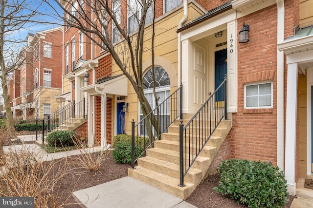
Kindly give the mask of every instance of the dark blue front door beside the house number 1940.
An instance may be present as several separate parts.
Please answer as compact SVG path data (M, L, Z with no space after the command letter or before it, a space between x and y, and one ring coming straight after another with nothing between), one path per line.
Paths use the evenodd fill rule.
M224 81L227 75L227 49L215 52L215 90ZM224 93L224 92L223 92ZM217 96L215 101L224 101L224 95Z

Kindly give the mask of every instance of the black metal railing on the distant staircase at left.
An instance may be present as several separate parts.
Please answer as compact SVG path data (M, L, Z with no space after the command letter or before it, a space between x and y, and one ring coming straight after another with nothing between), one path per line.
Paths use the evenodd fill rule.
M40 134L44 144L44 135L53 129L63 129L80 118L85 118L85 97L78 103L75 100L59 110L45 116L43 119L36 119L36 140Z

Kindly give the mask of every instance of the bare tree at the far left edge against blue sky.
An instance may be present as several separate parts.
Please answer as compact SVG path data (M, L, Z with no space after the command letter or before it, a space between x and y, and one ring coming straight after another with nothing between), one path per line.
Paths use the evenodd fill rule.
M25 24L35 22L33 18L40 6L41 4L38 3L35 8L32 8L27 0L0 0L0 78L7 127L10 130L14 130L14 124L10 108L7 76L19 68L24 61L23 57L19 56L19 50L25 40L17 38L17 33L25 27Z

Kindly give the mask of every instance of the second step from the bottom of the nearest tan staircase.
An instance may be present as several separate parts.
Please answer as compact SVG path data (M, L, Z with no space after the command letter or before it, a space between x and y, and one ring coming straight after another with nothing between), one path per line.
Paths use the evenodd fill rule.
M174 163L146 156L138 159L138 166L179 179L179 165ZM198 183L201 181L201 179L201 170L193 168L189 169L186 176L184 177L186 182L191 183Z

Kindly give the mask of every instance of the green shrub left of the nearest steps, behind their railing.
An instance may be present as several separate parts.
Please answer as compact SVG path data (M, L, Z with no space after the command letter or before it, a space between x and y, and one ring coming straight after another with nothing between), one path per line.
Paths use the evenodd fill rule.
M143 151L141 147L135 147L135 158ZM115 144L112 157L116 163L132 163L132 141L121 140Z

